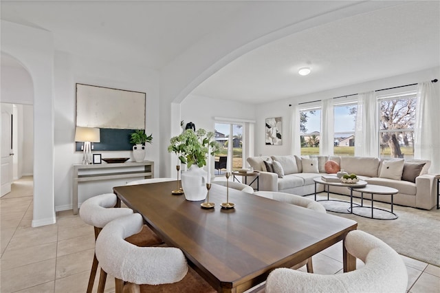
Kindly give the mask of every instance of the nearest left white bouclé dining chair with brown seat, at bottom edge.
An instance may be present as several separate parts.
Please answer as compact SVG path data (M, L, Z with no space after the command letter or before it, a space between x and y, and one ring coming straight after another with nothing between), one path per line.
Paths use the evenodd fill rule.
M120 217L104 226L96 240L96 257L101 270L115 276L116 293L217 292L188 268L179 248L138 247L124 240L142 225L140 214Z

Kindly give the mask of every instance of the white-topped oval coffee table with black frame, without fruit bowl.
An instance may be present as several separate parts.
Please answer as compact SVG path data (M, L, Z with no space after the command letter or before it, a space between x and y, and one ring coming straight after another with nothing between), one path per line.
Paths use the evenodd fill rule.
M366 217L371 219L382 219L382 220L397 219L398 216L395 213L393 213L393 196L399 193L399 191L396 188L368 184L367 186L362 188L353 188L352 192L353 191L358 191L359 193L361 193L361 205L351 206L349 208L349 211L351 211L351 213L358 215L360 217ZM371 194L371 206L364 206L364 193ZM373 207L374 195L391 195L391 211L385 210L384 208ZM361 214L360 212L358 212L358 209L366 209L366 208L367 209L371 208L371 216L366 215L366 213ZM380 214L382 215L380 217L375 217L373 214L374 210L380 210L381 211ZM386 215L388 215L389 217Z

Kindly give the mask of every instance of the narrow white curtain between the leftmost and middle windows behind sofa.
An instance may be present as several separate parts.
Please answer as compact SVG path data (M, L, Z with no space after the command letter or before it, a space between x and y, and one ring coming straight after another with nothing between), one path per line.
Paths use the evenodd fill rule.
M322 100L321 131L319 140L320 155L333 155L334 146L334 109L333 99Z

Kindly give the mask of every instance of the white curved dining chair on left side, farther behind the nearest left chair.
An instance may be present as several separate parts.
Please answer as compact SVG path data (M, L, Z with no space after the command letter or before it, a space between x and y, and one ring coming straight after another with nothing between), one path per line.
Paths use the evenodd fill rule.
M123 217L126 215L133 214L131 208L114 208L116 204L116 195L113 193L106 193L102 195L96 195L90 197L80 206L80 217L85 221L86 224L94 226L95 230L95 240L102 228L118 217ZM137 235L133 235L127 241L135 243L137 246L156 246L162 243L162 239L157 237L155 233L150 230L147 226L142 228L142 231ZM98 270L98 259L96 259L96 253L94 255L94 261L91 265L91 271L89 276L89 284L87 285L87 293L91 292L94 287L94 281L96 276L96 271ZM98 287L102 286L104 290L105 279L107 279L107 274L101 274Z

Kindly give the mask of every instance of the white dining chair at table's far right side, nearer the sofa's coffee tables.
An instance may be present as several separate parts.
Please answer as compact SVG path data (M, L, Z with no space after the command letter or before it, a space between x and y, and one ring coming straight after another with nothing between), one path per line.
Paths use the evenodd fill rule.
M313 199L302 197L300 195L292 195L291 193L279 193L276 191L256 191L254 192L254 195L274 199L278 202L294 204L295 206L301 206L303 208L309 208L310 210L315 210L318 213L327 213L322 204L315 202ZM307 266L307 272L314 272L314 265L311 261L311 257L294 265L292 269L297 270L298 268L302 268L304 265Z

